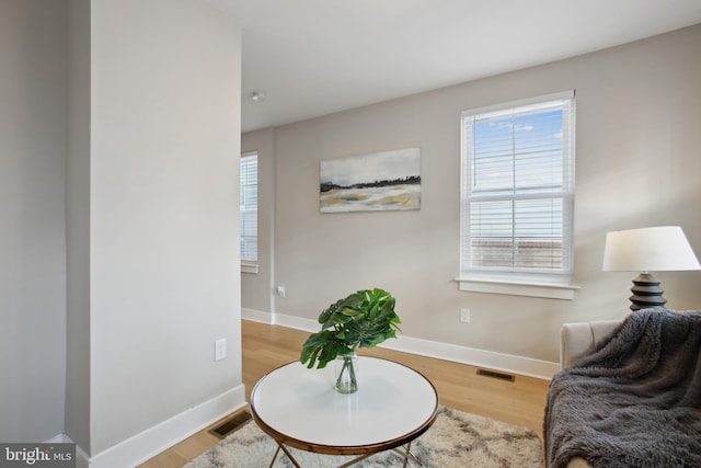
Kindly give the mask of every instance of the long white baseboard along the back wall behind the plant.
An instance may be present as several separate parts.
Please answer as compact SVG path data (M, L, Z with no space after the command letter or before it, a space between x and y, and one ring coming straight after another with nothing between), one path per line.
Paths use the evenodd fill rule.
M279 324L298 330L315 332L319 323L315 320L281 313L269 313L253 309L242 309L241 318L256 322ZM397 340L388 340L380 347L420 354L422 356L438 359L452 361L478 367L487 367L494 370L515 373L530 377L551 379L560 372L560 364L550 361L533 359L513 354L496 353L493 351L478 350L468 346L441 343L438 341L422 340L406 335L399 335Z

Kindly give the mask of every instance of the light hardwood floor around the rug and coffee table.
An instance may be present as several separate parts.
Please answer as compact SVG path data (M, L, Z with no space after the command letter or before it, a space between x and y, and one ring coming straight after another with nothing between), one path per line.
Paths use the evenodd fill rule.
M255 383L276 367L299 358L309 332L242 320L243 383L246 401ZM376 347L359 354L384 357L407 365L426 376L436 387L440 404L507 423L530 427L542 437L542 416L548 380L516 375L504 381L478 375L466 364ZM228 418L228 416L227 416ZM151 458L141 468L182 467L220 440L209 434L212 424Z

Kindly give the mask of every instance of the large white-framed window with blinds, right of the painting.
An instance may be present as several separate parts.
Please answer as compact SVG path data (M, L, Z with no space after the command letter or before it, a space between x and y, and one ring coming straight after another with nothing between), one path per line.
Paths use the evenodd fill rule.
M574 92L462 113L460 288L572 298Z

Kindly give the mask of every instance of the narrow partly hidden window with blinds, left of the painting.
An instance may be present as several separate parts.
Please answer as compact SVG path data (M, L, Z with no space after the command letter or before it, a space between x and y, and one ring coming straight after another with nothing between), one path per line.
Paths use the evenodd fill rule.
M241 271L257 273L258 261L258 155L241 156Z

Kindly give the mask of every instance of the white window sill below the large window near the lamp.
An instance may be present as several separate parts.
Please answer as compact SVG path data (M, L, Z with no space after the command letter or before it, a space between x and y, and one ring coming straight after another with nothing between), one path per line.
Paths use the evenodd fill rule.
M458 278L460 290L472 293L505 294L509 296L544 297L549 299L574 299L579 286L554 283L529 283L508 279L467 279Z

